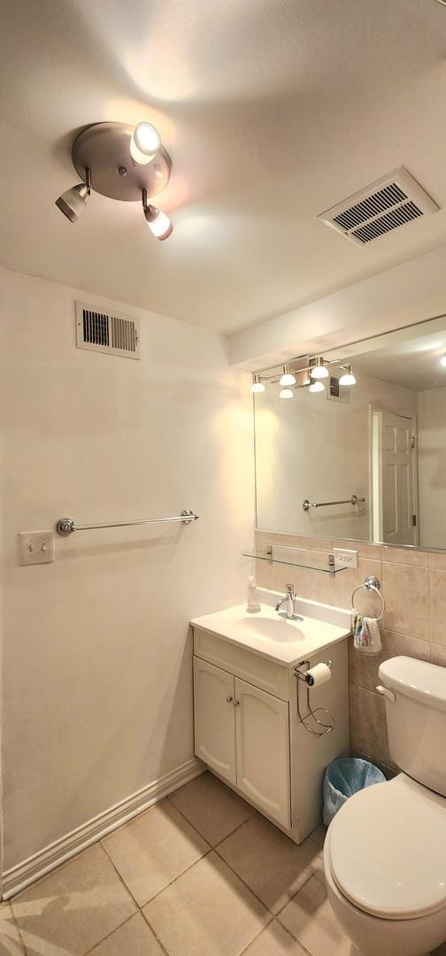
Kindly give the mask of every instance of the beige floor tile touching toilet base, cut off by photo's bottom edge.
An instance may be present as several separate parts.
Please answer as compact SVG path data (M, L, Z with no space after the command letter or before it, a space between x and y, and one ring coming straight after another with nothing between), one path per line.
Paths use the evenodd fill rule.
M288 902L279 920L308 949L311 956L357 954L334 916L325 885L319 877L308 880L294 899Z

